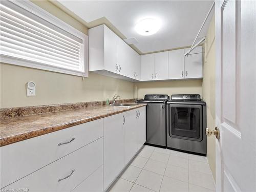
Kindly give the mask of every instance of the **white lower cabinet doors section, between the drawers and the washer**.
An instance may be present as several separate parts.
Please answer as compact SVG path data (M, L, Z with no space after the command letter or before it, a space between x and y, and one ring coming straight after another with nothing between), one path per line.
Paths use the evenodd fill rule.
M139 112L140 111L140 112ZM139 119L139 113L141 114ZM144 120L143 120L144 118ZM145 142L145 106L104 118L104 190Z

